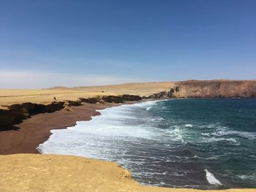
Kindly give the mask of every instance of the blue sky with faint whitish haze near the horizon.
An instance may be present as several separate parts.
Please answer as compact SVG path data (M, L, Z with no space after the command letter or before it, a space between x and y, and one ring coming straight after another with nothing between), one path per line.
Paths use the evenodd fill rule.
M255 0L0 0L0 88L256 79Z

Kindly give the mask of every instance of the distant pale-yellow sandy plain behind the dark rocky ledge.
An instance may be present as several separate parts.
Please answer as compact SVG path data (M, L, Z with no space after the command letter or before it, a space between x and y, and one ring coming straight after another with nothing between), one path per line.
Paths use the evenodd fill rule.
M91 96L117 95L117 94L138 94L146 96L151 93L167 91L173 82L146 82L128 83L123 85L105 85L80 88L50 88L42 90L29 89L0 89L0 108L11 104L21 104L24 102L49 104L55 101L72 100L80 97L88 98ZM104 91L104 93L102 93Z

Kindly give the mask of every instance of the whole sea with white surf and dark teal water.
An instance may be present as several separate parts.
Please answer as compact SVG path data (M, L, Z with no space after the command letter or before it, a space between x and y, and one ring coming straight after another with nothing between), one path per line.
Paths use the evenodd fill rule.
M256 188L256 99L170 99L99 112L52 130L38 150L116 161L142 185Z

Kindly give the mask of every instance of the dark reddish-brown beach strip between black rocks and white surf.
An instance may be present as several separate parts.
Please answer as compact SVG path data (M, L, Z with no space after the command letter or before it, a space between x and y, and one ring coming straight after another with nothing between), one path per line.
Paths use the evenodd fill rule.
M134 102L125 102L129 104ZM14 125L15 130L0 131L0 155L15 153L39 153L39 144L47 141L50 130L75 126L77 121L91 120L92 116L100 115L97 110L104 110L121 104L88 104L72 106L73 112L59 110L50 113L39 113L31 116L23 123Z

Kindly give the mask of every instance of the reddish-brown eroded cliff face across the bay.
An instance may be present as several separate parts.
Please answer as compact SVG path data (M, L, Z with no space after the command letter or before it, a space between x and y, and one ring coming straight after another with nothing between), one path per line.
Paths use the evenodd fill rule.
M256 81L181 81L175 82L169 91L154 93L144 99L165 98L255 98Z

